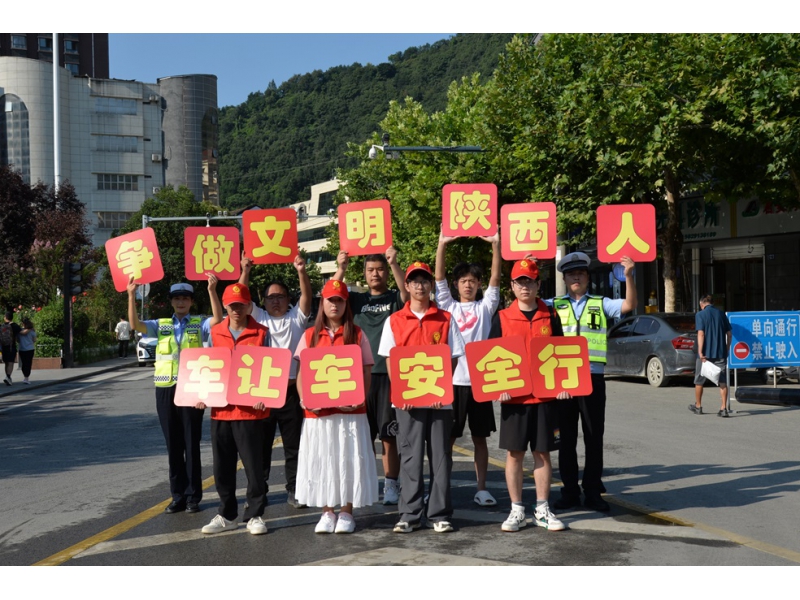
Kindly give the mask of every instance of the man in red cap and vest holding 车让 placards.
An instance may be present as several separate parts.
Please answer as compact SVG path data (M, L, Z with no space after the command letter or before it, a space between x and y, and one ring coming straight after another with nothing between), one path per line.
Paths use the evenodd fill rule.
M234 283L225 288L222 304L226 319L211 328L211 344L218 348L269 346L269 330L250 316L250 290ZM205 408L200 402L197 408ZM262 402L252 408L228 404L211 408L211 450L214 456L214 480L219 494L219 514L203 527L203 533L236 529L236 462L242 458L247 475L247 504L244 521L253 535L267 533L264 523L266 484L264 482L264 425L269 409Z

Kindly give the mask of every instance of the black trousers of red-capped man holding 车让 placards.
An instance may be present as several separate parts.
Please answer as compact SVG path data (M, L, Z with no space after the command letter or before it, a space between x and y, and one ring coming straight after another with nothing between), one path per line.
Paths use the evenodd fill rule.
M211 450L214 480L219 494L219 514L233 521L239 514L236 502L236 462L242 458L247 475L247 510L244 521L264 514L267 486L264 482L264 423L211 420Z

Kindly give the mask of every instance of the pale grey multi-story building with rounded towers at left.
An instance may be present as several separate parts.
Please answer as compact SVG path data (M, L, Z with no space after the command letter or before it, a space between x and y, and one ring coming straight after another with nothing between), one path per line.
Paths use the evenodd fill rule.
M218 203L215 75L58 77L61 180L86 205L95 245L165 184ZM0 163L29 183L54 183L52 64L0 56L0 107Z

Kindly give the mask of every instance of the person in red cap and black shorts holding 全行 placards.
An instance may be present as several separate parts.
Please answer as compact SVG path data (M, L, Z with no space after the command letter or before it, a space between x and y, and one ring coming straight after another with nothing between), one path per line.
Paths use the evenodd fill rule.
M489 339L510 335L522 336L526 352L534 337L562 336L561 321L553 309L537 298L539 268L532 260L520 260L511 269L511 289L516 300L495 314ZM529 356L530 358L530 356ZM562 392L558 399L569 398ZM536 482L536 505L533 521L539 527L560 531L564 524L550 511L550 479L553 466L550 452L558 449L560 432L558 412L552 398L524 396L512 398L504 392L499 401L500 447L507 450L506 485L511 497L511 514L503 523L503 531L519 531L528 524L522 502L522 465L530 446L533 452L533 479Z

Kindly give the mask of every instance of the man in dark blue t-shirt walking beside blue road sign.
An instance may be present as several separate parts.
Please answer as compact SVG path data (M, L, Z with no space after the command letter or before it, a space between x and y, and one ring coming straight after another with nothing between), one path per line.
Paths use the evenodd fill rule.
M708 380L700 373L703 363L711 362L719 372L719 396L722 405L718 417L728 416L728 352L731 348L731 324L725 313L714 306L711 294L700 298L700 310L694 317L697 329L697 360L694 366L694 404L689 410L696 415L703 414L703 385Z

